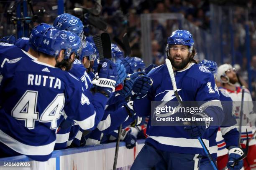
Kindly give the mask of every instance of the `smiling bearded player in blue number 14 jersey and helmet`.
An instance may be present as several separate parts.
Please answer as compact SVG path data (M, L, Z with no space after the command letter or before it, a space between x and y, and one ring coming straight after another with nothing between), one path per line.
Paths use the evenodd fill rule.
M133 88L133 109L140 117L149 116L145 145L136 157L131 170L151 169L157 163L168 170L194 170L199 167L201 155L205 155L200 145L199 136L209 147L208 129L223 120L223 110L215 80L208 70L196 64L194 40L190 32L176 30L167 40L166 53L172 63L177 89L182 101L197 101L203 107L196 117L212 117L213 121L205 125L191 122L191 126L152 126L151 101L177 100L166 64L154 68L148 75L140 77L141 85ZM153 85L152 80L153 80ZM216 86L217 87L217 86ZM144 93L137 92L143 88ZM212 101L215 102L212 102ZM182 114L183 115L183 114ZM154 117L153 117L154 118ZM210 124L210 126L209 126ZM157 168L157 167L155 167Z

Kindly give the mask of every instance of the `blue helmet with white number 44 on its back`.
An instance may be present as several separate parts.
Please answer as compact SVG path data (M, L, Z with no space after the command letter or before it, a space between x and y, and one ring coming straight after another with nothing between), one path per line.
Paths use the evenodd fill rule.
M72 50L68 32L56 28L47 28L38 34L31 34L29 43L36 47L37 51L54 57L57 57L59 52L64 50L65 59L70 57Z

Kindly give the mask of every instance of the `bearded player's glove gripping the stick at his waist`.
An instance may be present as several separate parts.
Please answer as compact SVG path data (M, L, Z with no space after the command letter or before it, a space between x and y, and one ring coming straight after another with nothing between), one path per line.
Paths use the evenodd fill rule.
M192 115L195 118L208 117L205 113L196 113ZM192 138L202 137L206 129L209 127L210 121L191 121L189 126L185 127L185 130L190 134Z

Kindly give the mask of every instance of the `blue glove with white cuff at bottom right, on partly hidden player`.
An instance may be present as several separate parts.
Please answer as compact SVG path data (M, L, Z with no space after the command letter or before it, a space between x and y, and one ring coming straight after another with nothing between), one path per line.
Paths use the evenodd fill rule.
M231 146L228 150L228 163L229 170L240 170L243 167L243 160L239 160L236 165L235 160L239 159L243 155L243 150L237 146Z

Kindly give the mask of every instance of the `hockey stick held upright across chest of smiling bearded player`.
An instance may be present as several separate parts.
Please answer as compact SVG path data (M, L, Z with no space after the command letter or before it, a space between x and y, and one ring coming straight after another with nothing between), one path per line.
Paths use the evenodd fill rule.
M166 66L167 66L169 75L170 75L170 77L171 77L174 95L175 95L175 97L177 98L177 100L178 100L178 102L179 102L179 105L181 105L181 107L182 107L182 100L180 99L179 94L178 94L178 90L177 90L177 86L176 86L176 82L175 82L175 77L174 77L174 73L173 73L173 70L172 70L172 63L171 63L171 61L170 61L168 58L165 59L165 62L166 62ZM185 113L184 113L184 114L185 114ZM186 114L185 114L185 116L188 117ZM190 124L190 123L189 123L189 124ZM217 166L216 166L214 160L212 159L212 157L211 157L211 155L210 155L210 153L209 153L209 150L207 150L206 145L205 145L205 143L203 142L202 138L201 138L201 137L198 137L197 139L199 140L200 144L202 145L202 148L203 148L203 150L205 151L205 153L206 153L208 159L210 160L210 162L211 162L212 167L214 168L214 170L218 170L218 169L217 169Z

